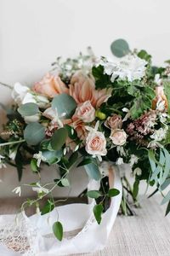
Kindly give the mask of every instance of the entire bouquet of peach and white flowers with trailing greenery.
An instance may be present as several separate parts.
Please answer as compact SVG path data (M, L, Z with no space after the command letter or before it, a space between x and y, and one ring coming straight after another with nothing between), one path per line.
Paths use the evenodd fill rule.
M76 59L58 58L31 88L14 84L15 103L0 135L0 168L16 166L19 179L26 165L37 173L37 181L28 184L37 199L26 201L22 210L35 205L42 214L52 211L57 203L53 190L70 186L71 168L84 166L90 178L100 180L99 190L85 192L96 200L94 216L100 223L111 197L119 194L109 189L108 173L100 168L112 162L119 168L129 164L134 177L131 187L126 172L122 175L122 213L133 214L129 196L138 206L141 180L156 185L154 193L161 191L161 203L170 212L170 192L163 191L170 184L170 61L153 67L151 55L130 50L123 39L111 50L113 60L97 59L88 49L88 55ZM42 184L42 164L57 166L60 178ZM14 192L20 195L20 187ZM59 221L54 234L62 239Z

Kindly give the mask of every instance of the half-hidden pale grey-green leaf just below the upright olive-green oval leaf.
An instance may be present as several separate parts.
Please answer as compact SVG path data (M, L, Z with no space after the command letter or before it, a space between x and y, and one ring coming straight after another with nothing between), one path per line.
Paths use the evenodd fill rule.
M63 155L63 152L62 150L44 150L42 151L42 155L46 158L46 162L48 163L48 165L53 165L59 162Z

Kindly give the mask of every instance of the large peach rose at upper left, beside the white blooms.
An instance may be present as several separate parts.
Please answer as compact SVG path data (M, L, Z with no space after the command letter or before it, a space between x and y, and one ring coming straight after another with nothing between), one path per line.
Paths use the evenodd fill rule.
M44 96L54 97L57 94L68 93L68 88L59 76L48 73L40 82L34 84L32 90Z

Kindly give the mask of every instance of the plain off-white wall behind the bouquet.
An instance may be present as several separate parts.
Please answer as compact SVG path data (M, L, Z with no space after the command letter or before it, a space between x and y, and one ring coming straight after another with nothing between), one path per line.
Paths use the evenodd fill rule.
M111 55L116 38L148 50L162 64L170 59L169 9L169 0L0 0L0 81L31 85L56 56L75 56L88 45L96 55ZM10 102L3 87L0 102ZM10 185L0 184L0 197L17 184L14 170L4 171L0 178ZM81 180L81 172L76 177Z

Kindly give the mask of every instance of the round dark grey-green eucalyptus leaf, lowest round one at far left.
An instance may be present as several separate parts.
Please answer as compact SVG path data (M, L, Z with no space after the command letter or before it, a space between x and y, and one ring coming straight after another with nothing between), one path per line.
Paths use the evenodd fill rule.
M30 123L26 125L24 138L29 145L37 145L42 142L45 137L45 127L39 123Z

